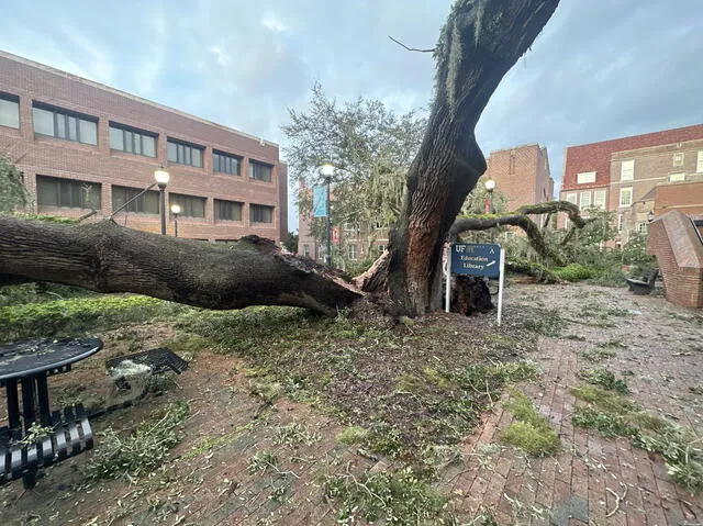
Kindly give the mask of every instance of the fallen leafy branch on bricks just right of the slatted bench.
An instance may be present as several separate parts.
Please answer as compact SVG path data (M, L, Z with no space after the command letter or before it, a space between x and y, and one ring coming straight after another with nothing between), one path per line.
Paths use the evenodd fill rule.
M133 480L163 466L168 451L180 443L178 426L188 418L189 406L176 402L152 413L132 434L120 434L108 428L90 462L86 474L96 479Z

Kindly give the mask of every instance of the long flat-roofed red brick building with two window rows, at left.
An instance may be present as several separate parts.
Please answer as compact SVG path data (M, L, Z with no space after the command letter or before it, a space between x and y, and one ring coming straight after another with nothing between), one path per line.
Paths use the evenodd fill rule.
M180 236L279 242L288 232L278 145L2 52L0 155L24 172L40 213L110 216L163 165L166 210L181 206ZM158 192L114 219L160 232ZM168 223L170 234L170 213Z

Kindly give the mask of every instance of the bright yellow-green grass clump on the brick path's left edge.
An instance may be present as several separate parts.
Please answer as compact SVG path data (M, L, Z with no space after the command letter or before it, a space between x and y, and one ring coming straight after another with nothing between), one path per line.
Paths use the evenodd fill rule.
M559 435L549 426L549 421L537 413L527 396L512 390L511 400L505 403L505 407L513 413L517 422L513 422L501 432L501 440L534 457L546 457L559 451Z

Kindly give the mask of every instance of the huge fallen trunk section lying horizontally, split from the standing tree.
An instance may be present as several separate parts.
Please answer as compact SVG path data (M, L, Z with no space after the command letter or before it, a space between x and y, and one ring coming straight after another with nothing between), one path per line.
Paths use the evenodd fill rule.
M234 245L174 238L111 221L60 225L0 216L0 284L53 281L207 309L302 306L325 314L361 294L308 258L256 236Z

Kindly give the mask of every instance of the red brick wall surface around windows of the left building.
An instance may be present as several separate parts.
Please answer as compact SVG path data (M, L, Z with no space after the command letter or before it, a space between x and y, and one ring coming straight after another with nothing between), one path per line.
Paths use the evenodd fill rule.
M0 126L0 155L9 157L24 171L32 193L36 189L36 175L99 182L102 184L100 213L109 215L112 212L112 184L145 188L154 182L154 170L163 164L171 176L167 192L207 198L205 217L181 217L179 235L214 240L256 234L278 242L288 228L286 166L279 160L276 144L1 52L0 91L20 97L20 130ZM98 117L98 145L35 136L32 126L34 100ZM109 121L158 134L156 158L111 152ZM204 147L203 168L167 161L167 137ZM242 175L215 174L213 148L243 157ZM271 182L249 179L249 159L274 167ZM214 199L244 203L243 221L215 222ZM274 223L252 224L252 203L275 206ZM45 212L74 216L85 213L83 210L67 209ZM127 226L159 232L157 215L130 213L125 217L120 213L116 216L121 224L125 219ZM170 217L168 231L172 232Z

